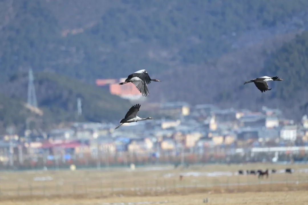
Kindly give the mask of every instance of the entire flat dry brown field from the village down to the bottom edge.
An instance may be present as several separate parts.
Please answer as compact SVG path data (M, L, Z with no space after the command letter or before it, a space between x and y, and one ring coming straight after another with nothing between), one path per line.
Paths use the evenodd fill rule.
M263 179L236 174L239 169L266 168L278 173ZM294 173L283 173L285 168ZM208 204L294 205L308 204L306 190L306 164L0 172L1 204L184 205L204 204L203 199L208 198Z

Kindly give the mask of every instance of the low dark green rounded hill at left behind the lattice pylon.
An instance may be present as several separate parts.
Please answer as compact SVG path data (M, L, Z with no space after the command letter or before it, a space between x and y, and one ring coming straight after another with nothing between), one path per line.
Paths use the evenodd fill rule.
M37 73L34 78L39 108L44 112L44 120L51 123L77 120L78 97L82 101L82 116L79 120L95 122L119 120L129 107L127 101L111 95L107 90L78 80L55 73ZM27 74L18 73L2 85L0 91L16 102L26 101L27 83ZM12 114L10 118L23 117ZM22 119L24 123L23 120L25 119Z

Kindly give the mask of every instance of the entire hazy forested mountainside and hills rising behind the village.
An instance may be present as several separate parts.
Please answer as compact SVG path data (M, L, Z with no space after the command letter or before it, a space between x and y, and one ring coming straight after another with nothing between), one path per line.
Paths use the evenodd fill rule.
M164 80L149 101L267 105L298 117L308 102L307 33L294 37L308 29L307 19L302 0L0 1L2 104L26 101L20 73L31 67L52 122L74 120L77 97L82 120L120 119L125 101L86 84L147 69ZM286 81L266 93L243 85L264 75ZM18 113L4 115L10 124Z

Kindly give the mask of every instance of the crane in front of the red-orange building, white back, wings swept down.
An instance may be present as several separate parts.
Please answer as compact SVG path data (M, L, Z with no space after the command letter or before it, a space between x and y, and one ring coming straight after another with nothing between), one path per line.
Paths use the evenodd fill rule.
M125 82L119 83L119 85L132 82L143 96L148 96L149 90L147 85L150 84L151 81L160 82L160 80L151 79L146 70L138 70L135 73L130 74Z

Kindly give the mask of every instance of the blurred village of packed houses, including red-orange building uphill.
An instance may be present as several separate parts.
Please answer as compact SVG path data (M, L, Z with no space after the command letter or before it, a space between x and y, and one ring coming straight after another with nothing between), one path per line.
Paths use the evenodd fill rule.
M98 79L96 85L131 101L142 100L133 84L119 86L119 81L123 79ZM1 136L0 168L307 161L306 115L294 123L278 109L252 112L186 102L145 103L146 109L168 117L124 124L117 130L116 122L74 122L48 132ZM81 104L77 112L82 112Z

